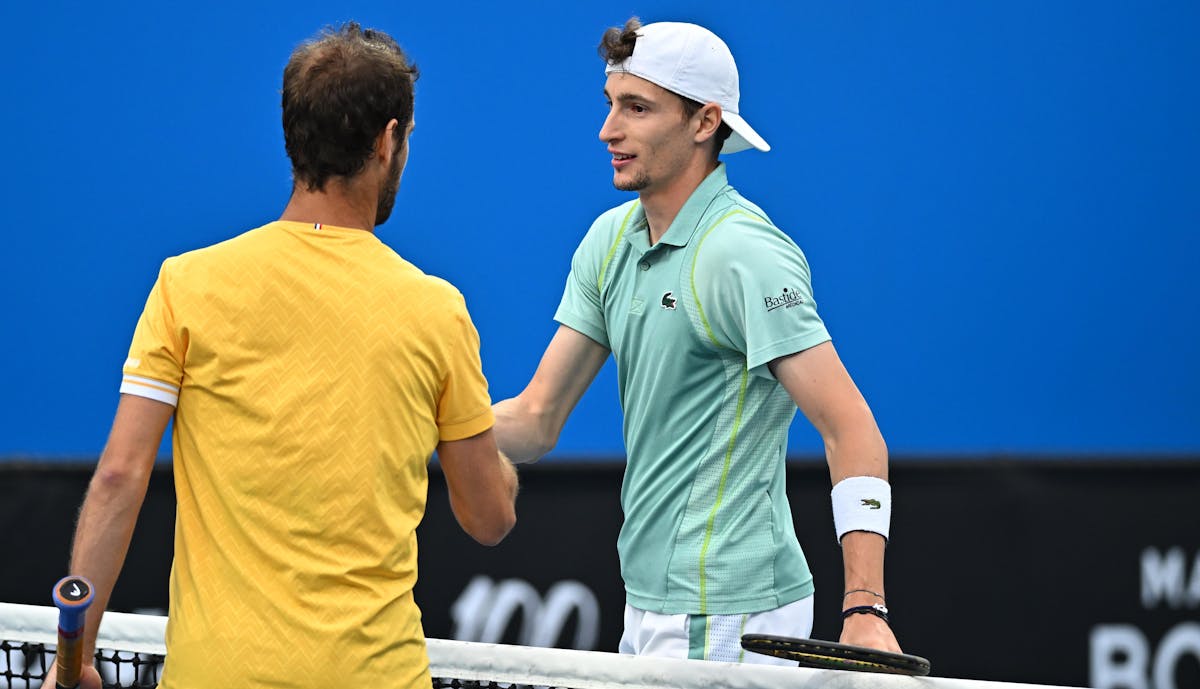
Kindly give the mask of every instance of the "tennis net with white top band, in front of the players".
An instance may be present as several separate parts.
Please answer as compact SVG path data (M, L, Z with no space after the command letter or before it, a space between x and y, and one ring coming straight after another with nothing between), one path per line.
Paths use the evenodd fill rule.
M167 618L107 612L97 642L106 688L157 685ZM0 689L40 689L54 663L58 610L0 603ZM595 651L427 640L434 689L1051 689L1033 684L635 658Z

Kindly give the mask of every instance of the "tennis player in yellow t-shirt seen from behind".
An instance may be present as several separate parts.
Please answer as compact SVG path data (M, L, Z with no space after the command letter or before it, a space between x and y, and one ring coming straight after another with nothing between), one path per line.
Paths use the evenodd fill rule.
M463 298L373 233L415 79L390 36L354 23L300 46L282 216L167 259L138 320L71 574L102 611L174 418L164 689L428 687L413 585L434 450L467 533L492 545L516 521Z

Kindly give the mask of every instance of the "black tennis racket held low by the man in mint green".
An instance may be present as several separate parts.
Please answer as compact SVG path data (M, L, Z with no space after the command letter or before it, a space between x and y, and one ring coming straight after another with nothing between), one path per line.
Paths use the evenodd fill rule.
M889 675L929 675L929 660L919 655L888 653L887 651L816 639L745 634L742 636L742 648L764 655L796 660L802 667L887 672Z

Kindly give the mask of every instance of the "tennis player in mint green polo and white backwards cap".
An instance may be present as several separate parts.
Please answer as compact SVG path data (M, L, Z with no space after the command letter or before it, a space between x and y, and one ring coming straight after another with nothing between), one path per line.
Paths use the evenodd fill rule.
M739 114L737 66L695 24L629 20L600 46L613 184L571 260L559 329L496 405L515 462L550 451L610 353L628 455L620 651L780 663L742 634L808 637L814 582L785 493L799 407L826 443L845 564L845 643L898 652L883 552L887 448L838 358L800 248L742 197L719 154L769 146Z

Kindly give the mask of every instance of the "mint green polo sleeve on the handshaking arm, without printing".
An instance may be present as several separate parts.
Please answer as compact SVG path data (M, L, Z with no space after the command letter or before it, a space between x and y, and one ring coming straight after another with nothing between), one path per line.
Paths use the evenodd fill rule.
M602 277L611 254L620 241L620 233L612 227L611 212L601 215L571 257L571 272L566 276L563 299L554 312L554 320L587 335L598 343L608 344L608 329L604 318Z

